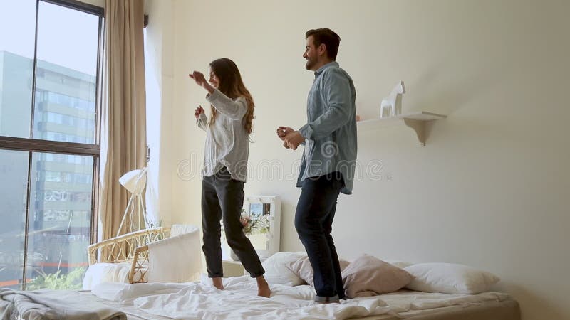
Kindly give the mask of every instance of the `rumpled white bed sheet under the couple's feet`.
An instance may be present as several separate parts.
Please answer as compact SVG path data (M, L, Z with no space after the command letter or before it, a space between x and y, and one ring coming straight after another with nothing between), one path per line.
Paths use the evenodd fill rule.
M432 294L400 290L392 294L316 304L308 285L271 285L271 298L257 297L247 277L224 279L223 291L207 283L100 284L93 294L125 311L129 319L354 319L406 318L450 306L504 301L508 294ZM370 319L370 318L368 318Z

